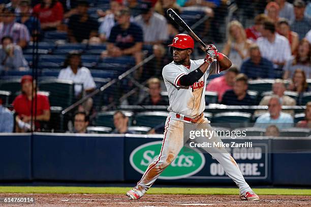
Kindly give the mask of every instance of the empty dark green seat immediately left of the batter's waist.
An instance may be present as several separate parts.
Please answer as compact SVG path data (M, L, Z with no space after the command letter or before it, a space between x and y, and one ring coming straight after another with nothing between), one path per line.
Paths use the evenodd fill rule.
M140 112L135 115L135 125L155 127L159 124L164 124L168 112Z

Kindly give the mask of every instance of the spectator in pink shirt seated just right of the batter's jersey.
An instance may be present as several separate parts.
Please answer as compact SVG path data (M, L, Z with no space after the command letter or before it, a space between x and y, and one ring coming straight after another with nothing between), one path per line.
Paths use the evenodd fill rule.
M227 90L233 88L235 77L238 75L236 66L231 66L225 75L212 79L206 86L206 91L215 91L218 93L218 102L222 102L223 95Z

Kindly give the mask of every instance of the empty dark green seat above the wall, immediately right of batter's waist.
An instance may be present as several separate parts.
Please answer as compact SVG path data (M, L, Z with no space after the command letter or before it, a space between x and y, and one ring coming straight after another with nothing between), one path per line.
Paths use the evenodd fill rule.
M213 115L212 122L216 123L228 123L229 125L235 123L250 123L252 118L251 113L246 112L221 112ZM244 125L243 125L244 126Z

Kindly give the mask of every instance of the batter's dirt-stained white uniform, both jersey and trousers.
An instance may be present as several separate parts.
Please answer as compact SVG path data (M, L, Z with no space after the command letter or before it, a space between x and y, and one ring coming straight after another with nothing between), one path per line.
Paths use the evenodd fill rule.
M173 62L164 66L162 75L168 91L170 106L168 111L170 112L165 123L164 139L160 155L157 159L153 160L146 169L141 180L137 183L137 187L140 189L143 187L148 190L151 185L157 180L161 172L176 158L179 151L184 145L183 140L183 127L184 122L194 124L191 121L183 120L184 117L192 119L198 119L196 124L204 124L209 130L213 130L207 118L202 116L205 109L205 87L206 80L210 74L219 73L219 63L213 61L204 76L199 81L194 83L190 87L178 86L178 80L183 75L189 74L196 70L204 60L190 60L190 69L181 64ZM176 114L180 115L180 118L176 117ZM204 139L204 138L202 138ZM199 140L200 142L221 142L219 137L212 137L210 140ZM240 189L240 193L250 191L251 188L245 182L241 171L236 164L235 160L226 151L225 148L202 148L211 154L217 161L219 161L227 175L236 183Z

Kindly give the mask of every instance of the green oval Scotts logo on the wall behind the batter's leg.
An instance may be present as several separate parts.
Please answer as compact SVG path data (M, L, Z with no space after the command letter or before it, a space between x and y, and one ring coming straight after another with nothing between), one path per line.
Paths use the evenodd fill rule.
M137 147L130 155L132 167L144 174L149 164L158 158L162 142L146 143ZM173 180L195 175L205 165L204 156L197 149L181 150L175 160L162 172L159 179Z

